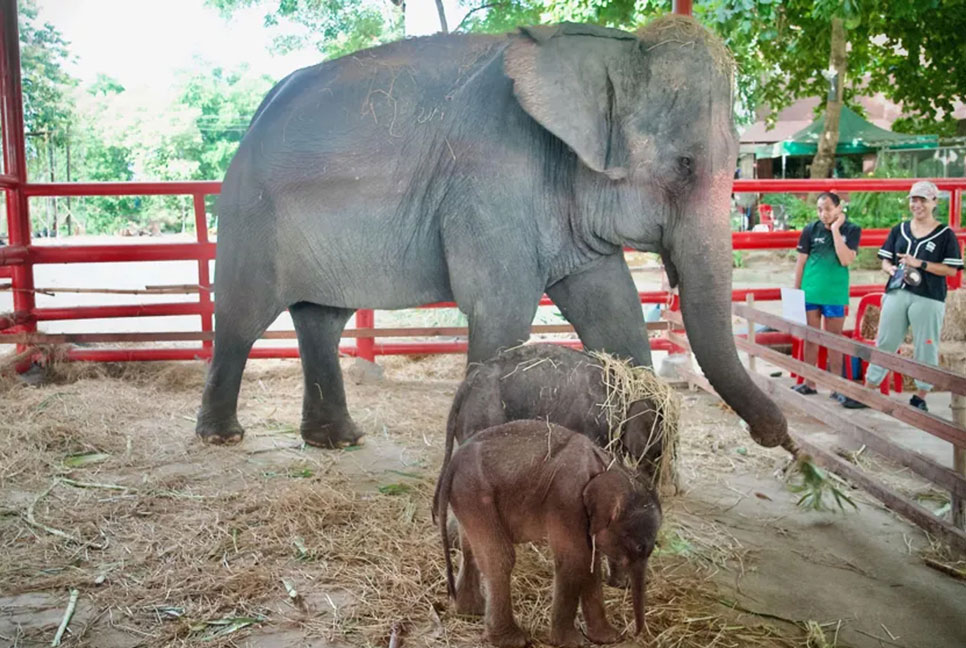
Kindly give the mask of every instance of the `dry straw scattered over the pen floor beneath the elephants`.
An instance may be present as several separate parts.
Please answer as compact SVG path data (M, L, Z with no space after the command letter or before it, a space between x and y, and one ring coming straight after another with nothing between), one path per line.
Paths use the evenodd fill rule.
M70 376L55 365L58 382L12 386L0 398L3 509L25 510L59 479L63 486L37 499L36 519L78 538L103 534L110 543L99 551L79 547L6 515L0 591L83 592L100 621L86 631L75 621L79 645L98 645L108 622L149 647L201 639L235 645L272 629L297 632L306 642L385 646L394 624L406 646L481 645L481 621L456 616L446 600L429 515L446 407L462 361L433 360L439 375L457 375L445 382L418 380L420 363L396 363L405 378L391 388L349 388L370 436L382 438L381 421L391 422L385 443L404 443L399 452L413 465L406 472L415 477L384 474L406 480L406 488L385 493L376 489L385 484L360 477L353 452L253 456L245 448L201 446L192 436L201 363L71 365ZM246 373L240 410L246 444L293 435L285 422L297 417L301 380L297 363L256 363ZM64 463L79 452L108 458L79 468ZM670 539L651 561L647 634L638 641L801 646L800 637L782 638L758 619L736 621L718 604L711 578L726 564L740 564L744 549L710 522L676 512L673 499L666 508ZM552 560L545 548L523 546L518 554L517 614L539 640L549 626ZM632 627L627 593L605 593L617 625ZM37 638L49 641L52 632Z

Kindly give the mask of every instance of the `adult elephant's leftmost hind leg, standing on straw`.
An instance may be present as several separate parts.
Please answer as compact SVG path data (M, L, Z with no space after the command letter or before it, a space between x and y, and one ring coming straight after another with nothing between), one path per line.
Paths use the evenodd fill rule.
M283 307L221 291L215 300L215 345L195 433L205 443L233 444L245 430L238 422L238 391L248 354Z

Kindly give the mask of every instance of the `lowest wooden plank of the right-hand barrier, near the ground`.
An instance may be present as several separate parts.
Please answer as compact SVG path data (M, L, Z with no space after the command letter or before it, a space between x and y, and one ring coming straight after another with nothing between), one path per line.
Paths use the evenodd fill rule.
M961 551L966 551L966 533L945 520L936 517L930 511L919 506L912 500L893 493L835 453L811 443L807 438L800 434L795 434L791 430L789 430L789 433L802 450L809 453L817 464L840 477L852 481L852 483L864 489L889 509L895 511L913 524L934 535L942 537L949 544L956 546Z

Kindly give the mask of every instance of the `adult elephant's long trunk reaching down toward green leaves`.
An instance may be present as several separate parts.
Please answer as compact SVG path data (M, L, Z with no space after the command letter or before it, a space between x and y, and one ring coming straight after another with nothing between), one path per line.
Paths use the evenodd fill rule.
M752 382L738 359L731 319L731 229L728 196L731 177L721 174L694 204L700 211L683 215L688 232L677 232L671 247L676 266L684 326L705 377L718 395L749 426L765 447L782 445L795 452L788 423L778 406ZM710 210L710 213L709 211ZM685 229L685 228L681 228Z

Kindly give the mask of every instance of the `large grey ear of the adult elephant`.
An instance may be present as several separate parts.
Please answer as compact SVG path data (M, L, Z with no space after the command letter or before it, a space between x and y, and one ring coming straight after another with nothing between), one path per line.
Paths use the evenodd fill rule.
M521 29L503 67L523 109L581 161L612 180L627 175L614 119L612 64L637 43L617 29L564 23Z

